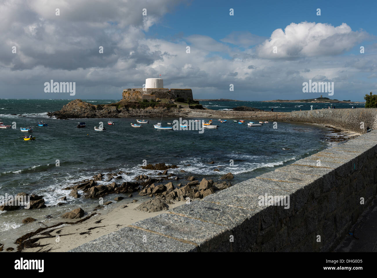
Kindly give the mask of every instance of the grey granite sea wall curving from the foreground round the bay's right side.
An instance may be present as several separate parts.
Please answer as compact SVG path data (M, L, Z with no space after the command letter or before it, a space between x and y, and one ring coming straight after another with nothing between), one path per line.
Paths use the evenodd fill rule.
M376 109L349 110L297 111L287 120L375 127ZM331 251L376 196L376 158L371 131L71 251Z

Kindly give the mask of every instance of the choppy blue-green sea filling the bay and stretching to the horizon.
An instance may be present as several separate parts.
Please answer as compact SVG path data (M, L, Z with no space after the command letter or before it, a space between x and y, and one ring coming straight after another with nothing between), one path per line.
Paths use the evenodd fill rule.
M84 100L84 99L83 99ZM84 100L93 104L107 104L118 100ZM115 125L107 125L109 119L58 120L47 116L49 111L60 110L70 100L63 99L0 99L0 122L15 125L16 128L0 129L2 151L0 154L0 195L16 195L19 192L43 195L46 208L37 210L16 210L0 212L0 242L11 242L47 223L62 221L59 216L77 207L92 210L98 200L69 196L70 190L63 188L83 179L90 179L98 173L124 171L117 183L134 181L135 176L157 176L159 171L143 170L147 164L175 164L179 168L169 170L180 179L173 184L185 182L188 176L219 181L231 172L232 184L254 178L288 165L328 148L331 130L321 125L291 124L278 122L277 129L269 122L261 127L248 127L227 119L220 123L213 119L218 129L198 131L155 130L153 124L161 119L151 118L143 128L132 128L136 118L111 119ZM277 103L257 101L202 101L201 104L213 110L230 110L245 105L267 111L294 111L327 108L327 103ZM336 103L336 108L364 107L361 103ZM198 118L199 119L199 118ZM46 127L38 127L37 121L44 120ZM162 125L174 118L163 118ZM199 120L210 120L200 118ZM237 119L235 119L237 120ZM77 128L77 122L86 122L85 128ZM106 131L97 132L94 126L103 122ZM34 127L35 141L24 141L21 136L29 133L20 127ZM331 135L333 136L333 134ZM214 161L214 164L209 162ZM219 171L214 171L218 169ZM184 170L185 172L182 172ZM108 184L109 182L98 182ZM82 192L79 192L82 193ZM143 200L124 195L125 201ZM66 204L57 206L59 198L67 196ZM104 202L113 201L108 195ZM64 201L63 201L64 202ZM116 202L109 205L116 205ZM106 209L109 209L106 208ZM37 221L21 224L22 219L33 217Z

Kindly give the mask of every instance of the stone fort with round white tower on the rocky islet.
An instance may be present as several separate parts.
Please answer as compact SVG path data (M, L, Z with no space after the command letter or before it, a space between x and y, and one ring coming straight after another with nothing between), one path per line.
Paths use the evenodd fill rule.
M193 99L191 89L167 89L161 78L147 78L144 88L130 88L123 90L122 98L124 100L142 100L142 99Z

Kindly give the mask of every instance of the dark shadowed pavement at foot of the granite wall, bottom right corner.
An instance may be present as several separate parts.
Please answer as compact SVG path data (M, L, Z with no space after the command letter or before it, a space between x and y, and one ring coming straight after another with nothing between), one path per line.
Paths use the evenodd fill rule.
M377 199L357 220L346 238L334 252L377 252Z

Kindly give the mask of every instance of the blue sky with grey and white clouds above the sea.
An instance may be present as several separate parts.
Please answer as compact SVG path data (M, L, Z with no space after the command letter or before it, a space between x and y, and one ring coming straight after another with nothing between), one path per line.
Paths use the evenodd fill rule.
M0 98L121 99L161 74L164 88L195 99L364 101L377 94L376 10L348 0L0 0ZM75 95L46 92L50 80L75 82ZM309 80L334 82L334 94L304 93Z

